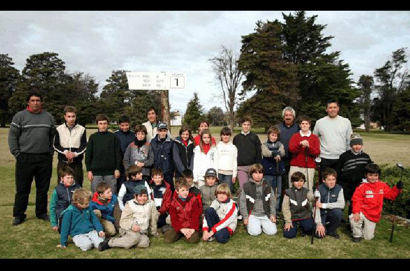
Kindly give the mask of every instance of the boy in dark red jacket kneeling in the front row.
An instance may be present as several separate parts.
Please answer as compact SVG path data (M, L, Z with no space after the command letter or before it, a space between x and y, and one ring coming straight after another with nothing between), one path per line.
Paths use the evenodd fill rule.
M189 184L183 178L176 180L175 193L170 206L172 229L164 234L164 241L173 243L183 237L189 243L198 243L198 199L189 192Z

